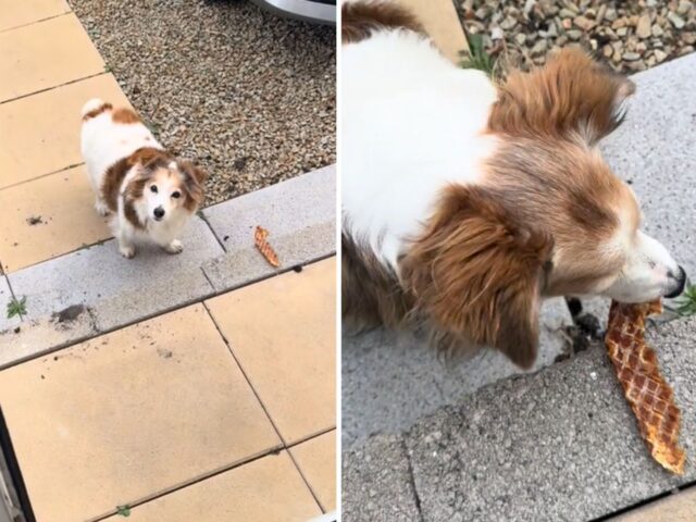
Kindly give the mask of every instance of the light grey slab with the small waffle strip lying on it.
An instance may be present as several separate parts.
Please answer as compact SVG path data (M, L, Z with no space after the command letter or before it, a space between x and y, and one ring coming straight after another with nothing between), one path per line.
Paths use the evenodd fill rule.
M336 167L320 169L203 210L226 253L203 270L215 289L229 289L336 251ZM256 250L257 225L281 260L274 269Z

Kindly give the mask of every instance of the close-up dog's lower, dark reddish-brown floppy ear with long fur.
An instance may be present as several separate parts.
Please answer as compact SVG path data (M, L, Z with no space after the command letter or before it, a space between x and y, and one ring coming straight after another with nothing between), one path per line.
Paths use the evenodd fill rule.
M401 276L436 338L536 360L544 268L551 239L515 224L480 187L449 187L427 232L401 259Z

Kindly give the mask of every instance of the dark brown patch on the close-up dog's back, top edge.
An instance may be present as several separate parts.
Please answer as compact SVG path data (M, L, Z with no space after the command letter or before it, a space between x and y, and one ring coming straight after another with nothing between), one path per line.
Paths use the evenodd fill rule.
M418 18L398 4L384 1L343 4L340 37L344 44L370 38L378 29L408 29L425 34Z

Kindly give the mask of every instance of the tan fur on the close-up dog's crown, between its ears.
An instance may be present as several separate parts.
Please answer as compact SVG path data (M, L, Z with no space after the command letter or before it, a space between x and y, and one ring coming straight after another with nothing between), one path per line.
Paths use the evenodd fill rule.
M586 294L623 264L622 251L607 246L622 225L637 227L637 203L598 152L569 140L502 137L485 170L500 204L554 237L544 295Z

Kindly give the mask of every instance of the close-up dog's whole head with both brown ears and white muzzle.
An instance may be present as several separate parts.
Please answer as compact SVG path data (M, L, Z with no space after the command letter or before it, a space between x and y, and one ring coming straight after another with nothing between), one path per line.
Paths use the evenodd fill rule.
M641 231L633 191L597 149L633 91L580 51L500 86L484 181L449 187L401 260L445 345L493 346L530 366L543 296L642 302L682 291L684 271Z

